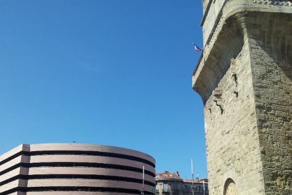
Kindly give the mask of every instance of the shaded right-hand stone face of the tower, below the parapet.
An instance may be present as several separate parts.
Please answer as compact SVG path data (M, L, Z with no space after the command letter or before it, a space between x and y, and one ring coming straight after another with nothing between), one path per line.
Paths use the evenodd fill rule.
M265 192L292 195L292 16L251 12L247 30Z

